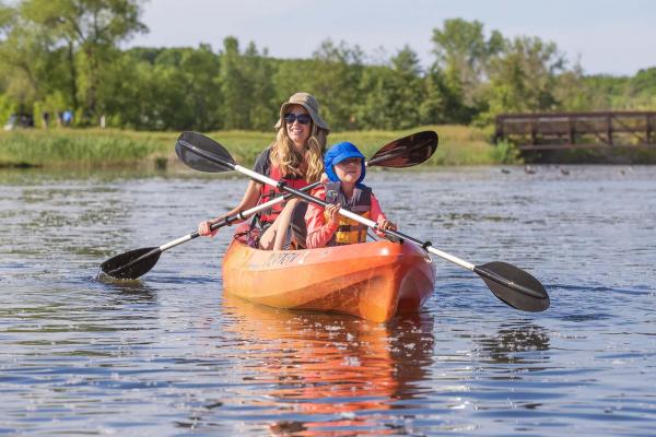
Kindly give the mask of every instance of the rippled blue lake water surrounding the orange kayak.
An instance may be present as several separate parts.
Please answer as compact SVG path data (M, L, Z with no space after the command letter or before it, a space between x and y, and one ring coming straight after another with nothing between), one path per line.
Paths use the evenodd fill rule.
M499 302L435 258L423 311L376 324L224 296L230 232L96 280L241 198L245 179L0 173L0 434L656 433L656 167L367 176L400 229L551 296ZM266 284L262 284L266 286Z

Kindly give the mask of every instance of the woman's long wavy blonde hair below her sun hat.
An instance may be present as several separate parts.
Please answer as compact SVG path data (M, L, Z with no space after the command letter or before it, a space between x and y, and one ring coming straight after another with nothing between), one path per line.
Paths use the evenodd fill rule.
M326 153L326 137L328 131L312 122L309 138L305 142L305 156L294 149L294 142L286 133L286 123L278 129L276 142L271 144L271 164L277 165L283 176L297 176L309 184L320 179L324 173L324 153ZM305 169L305 174L303 172Z

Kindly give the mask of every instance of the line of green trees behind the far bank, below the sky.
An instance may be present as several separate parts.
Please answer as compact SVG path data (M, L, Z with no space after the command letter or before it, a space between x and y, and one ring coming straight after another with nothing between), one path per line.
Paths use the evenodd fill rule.
M324 40L308 59L276 59L226 37L219 50L121 49L138 33L139 0L0 0L0 121L74 114L77 126L138 130L269 130L280 103L315 94L335 130L489 125L501 113L648 109L656 68L634 76L585 75L555 44L505 37L445 20L423 68L408 46L371 60Z

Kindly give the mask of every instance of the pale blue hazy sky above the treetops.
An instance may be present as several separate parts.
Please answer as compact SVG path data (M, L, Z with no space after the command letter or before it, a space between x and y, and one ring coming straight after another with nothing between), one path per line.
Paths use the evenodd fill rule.
M274 58L309 58L327 38L358 45L374 61L408 45L434 61L433 29L444 20L478 20L489 36L553 42L585 74L633 75L656 67L656 1L651 0L150 0L149 33L126 47L198 47L214 51L235 36Z

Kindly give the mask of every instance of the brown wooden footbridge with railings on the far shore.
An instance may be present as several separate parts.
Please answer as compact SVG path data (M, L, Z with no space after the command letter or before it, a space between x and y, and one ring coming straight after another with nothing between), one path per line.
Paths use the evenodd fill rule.
M495 142L520 151L655 147L656 111L502 114Z

